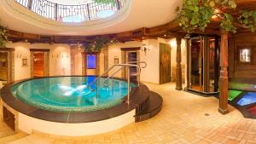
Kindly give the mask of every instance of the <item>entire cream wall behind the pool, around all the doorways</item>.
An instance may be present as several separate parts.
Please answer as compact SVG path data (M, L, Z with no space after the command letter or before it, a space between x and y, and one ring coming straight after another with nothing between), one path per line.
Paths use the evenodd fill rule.
M127 42L127 43L113 43L108 46L108 67L113 66L114 57L119 57L119 63L121 63L121 48L129 47L141 47L142 43L148 43L149 50L145 55L143 51L140 51L140 60L146 61L148 66L142 69L141 80L144 82L159 84L160 73L160 43L171 44L171 66L176 66L176 39L149 39L143 42ZM7 43L7 47L15 48L15 80L30 78L30 50L29 49L50 49L49 51L49 75L70 75L70 48L67 44L30 44L30 43ZM100 67L101 72L104 72L104 55L100 55ZM22 58L27 58L28 65L22 66ZM186 42L182 41L182 65L186 64ZM172 71L171 71L172 72ZM95 72L88 72L89 74L95 74ZM75 55L75 74L82 75L82 55L77 53ZM121 77L119 72L116 77Z

